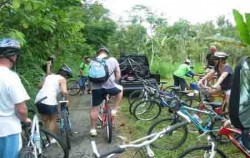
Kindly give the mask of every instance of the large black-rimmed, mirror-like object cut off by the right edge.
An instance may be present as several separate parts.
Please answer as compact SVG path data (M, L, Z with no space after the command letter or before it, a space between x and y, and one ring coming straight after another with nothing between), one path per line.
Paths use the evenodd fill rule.
M234 72L229 102L231 123L242 131L242 143L250 149L250 57L243 57Z

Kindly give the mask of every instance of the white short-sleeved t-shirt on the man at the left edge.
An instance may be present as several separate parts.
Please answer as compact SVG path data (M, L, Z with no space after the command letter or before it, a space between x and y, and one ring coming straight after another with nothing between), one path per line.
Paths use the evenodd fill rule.
M19 76L9 68L0 66L0 137L21 132L15 104L29 99Z

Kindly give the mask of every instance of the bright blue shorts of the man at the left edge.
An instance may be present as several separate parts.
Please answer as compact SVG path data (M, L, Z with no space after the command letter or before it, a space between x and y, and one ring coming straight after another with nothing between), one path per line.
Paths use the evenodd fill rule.
M18 158L19 135L0 137L0 158Z

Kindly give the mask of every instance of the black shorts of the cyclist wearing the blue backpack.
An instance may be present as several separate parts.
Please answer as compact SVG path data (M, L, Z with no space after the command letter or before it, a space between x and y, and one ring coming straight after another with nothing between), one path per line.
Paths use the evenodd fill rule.
M93 89L92 90L92 106L101 105L104 97L109 94L111 96L117 95L121 92L121 90L117 87L111 89Z

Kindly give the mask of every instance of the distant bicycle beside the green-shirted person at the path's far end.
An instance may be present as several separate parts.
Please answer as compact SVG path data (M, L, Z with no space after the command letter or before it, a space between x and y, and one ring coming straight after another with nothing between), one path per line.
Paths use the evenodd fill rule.
M84 92L86 90L86 87L88 87L87 78L85 79L85 82L83 83L81 81L82 76L78 76L79 79L70 79L67 81L67 89L68 93L71 96L77 95L80 91Z

